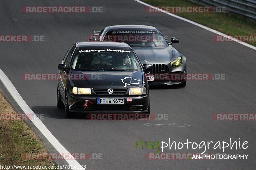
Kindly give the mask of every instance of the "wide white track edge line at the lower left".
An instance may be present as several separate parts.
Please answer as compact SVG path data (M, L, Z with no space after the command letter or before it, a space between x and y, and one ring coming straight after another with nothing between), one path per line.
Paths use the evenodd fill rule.
M60 144L60 142L52 135L52 133L47 129L47 127L43 124L43 122L36 116L36 114L28 107L28 104L22 99L18 91L13 86L12 82L8 79L8 77L4 74L4 72L0 69L0 80L3 82L5 88L9 91L13 99L19 104L20 108L24 111L24 113L30 119L31 117L35 119L30 119L33 124L37 127L37 129L44 135L44 137L52 144L52 146L59 153L68 153L70 159L64 158L70 167L77 167L80 164L76 161L76 159L68 152L64 146ZM75 166L76 165L76 166ZM73 168L76 169L76 168ZM82 169L82 168L81 168ZM84 170L84 169L83 169Z

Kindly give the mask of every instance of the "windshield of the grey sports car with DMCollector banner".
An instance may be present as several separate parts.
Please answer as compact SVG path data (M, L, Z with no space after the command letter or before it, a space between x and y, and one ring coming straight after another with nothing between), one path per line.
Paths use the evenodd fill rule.
M164 36L156 31L110 31L104 41L125 42L130 46L139 47L167 47Z

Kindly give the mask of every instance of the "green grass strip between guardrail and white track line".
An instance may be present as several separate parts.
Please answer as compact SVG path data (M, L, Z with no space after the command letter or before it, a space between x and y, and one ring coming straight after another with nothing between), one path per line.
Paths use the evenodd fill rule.
M142 0L152 6L202 6L188 0ZM227 13L174 13L227 35L256 35L256 23ZM247 42L256 46L256 41Z

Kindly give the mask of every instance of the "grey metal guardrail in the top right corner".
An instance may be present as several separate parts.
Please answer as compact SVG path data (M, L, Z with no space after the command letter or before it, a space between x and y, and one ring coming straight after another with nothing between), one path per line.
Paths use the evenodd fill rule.
M243 15L256 22L256 0L190 0L205 6L226 7L227 11Z

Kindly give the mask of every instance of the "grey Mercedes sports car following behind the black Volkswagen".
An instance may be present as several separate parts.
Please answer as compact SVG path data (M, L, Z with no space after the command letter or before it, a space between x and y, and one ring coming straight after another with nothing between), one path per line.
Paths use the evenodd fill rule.
M142 65L152 64L147 75L149 84L186 86L186 57L172 46L179 39L171 38L169 43L163 34L153 26L114 25L94 32L89 41L116 41L129 44L138 55Z

